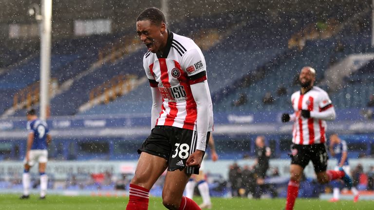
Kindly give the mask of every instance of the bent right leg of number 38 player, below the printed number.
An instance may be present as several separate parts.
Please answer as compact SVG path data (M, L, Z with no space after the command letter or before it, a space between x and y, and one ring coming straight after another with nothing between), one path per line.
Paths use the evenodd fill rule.
M186 169L180 171L168 171L162 190L162 203L169 210L201 210L192 200L183 196L183 191L190 175Z

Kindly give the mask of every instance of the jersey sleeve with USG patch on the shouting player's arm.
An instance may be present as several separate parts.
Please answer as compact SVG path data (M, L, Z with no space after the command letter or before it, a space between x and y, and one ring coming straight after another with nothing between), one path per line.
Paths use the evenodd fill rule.
M206 63L200 49L187 51L182 57L181 67L186 71L190 85L206 80Z

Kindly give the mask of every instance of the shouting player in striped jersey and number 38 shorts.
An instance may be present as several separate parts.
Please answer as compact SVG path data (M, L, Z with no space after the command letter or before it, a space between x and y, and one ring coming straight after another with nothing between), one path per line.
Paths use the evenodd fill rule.
M136 32L148 48L143 66L152 92L151 133L130 184L127 210L147 210L149 191L167 169L162 192L170 210L200 210L183 191L191 174L198 174L205 154L213 111L200 48L185 36L168 30L164 14L144 10Z

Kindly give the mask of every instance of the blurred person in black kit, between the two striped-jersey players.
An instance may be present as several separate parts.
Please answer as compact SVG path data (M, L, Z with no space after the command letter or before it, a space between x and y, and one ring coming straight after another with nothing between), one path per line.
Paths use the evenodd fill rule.
M264 179L266 171L269 169L269 159L271 156L271 149L265 145L265 137L258 136L256 138L256 159L252 168L255 171L256 189L253 194L254 198L260 198L264 191Z

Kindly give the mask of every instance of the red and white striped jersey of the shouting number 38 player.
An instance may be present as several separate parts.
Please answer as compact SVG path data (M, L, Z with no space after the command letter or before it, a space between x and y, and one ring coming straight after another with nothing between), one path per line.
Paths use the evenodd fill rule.
M197 130L197 106L190 85L207 79L204 55L192 39L168 33L163 55L148 51L143 57L150 86L158 88L163 98L156 125ZM207 83L205 84L209 91ZM212 131L213 107L210 93L208 95L208 131Z

